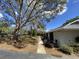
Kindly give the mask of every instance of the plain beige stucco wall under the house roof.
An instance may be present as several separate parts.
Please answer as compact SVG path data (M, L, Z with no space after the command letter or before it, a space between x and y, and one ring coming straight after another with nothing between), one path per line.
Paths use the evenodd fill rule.
M75 41L75 37L79 36L79 30L60 30L53 32L53 34L59 45L72 44Z

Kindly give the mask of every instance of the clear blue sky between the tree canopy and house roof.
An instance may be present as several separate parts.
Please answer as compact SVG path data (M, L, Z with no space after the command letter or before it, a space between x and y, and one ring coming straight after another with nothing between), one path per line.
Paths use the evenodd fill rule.
M46 30L55 29L65 23L67 20L79 16L79 0L69 0L67 11L57 16L54 20L46 25Z

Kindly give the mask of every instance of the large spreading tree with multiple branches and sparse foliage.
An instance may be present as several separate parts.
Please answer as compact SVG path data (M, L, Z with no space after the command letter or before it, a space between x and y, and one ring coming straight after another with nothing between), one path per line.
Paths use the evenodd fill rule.
M66 0L0 0L0 11L15 20L13 39L19 30L26 26L42 28L46 22L63 10ZM6 18L6 17L5 17Z

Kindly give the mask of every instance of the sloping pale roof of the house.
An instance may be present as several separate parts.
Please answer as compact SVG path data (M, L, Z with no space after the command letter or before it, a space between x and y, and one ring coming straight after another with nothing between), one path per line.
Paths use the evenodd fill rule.
M50 30L49 32L59 31L59 30L79 30L79 19L67 23L66 25L62 25L56 29Z

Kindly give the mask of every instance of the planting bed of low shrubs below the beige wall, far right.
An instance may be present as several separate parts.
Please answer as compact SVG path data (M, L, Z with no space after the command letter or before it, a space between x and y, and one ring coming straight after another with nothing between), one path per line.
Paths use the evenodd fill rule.
M59 47L59 50L68 55L79 54L79 45L62 45L61 47Z

